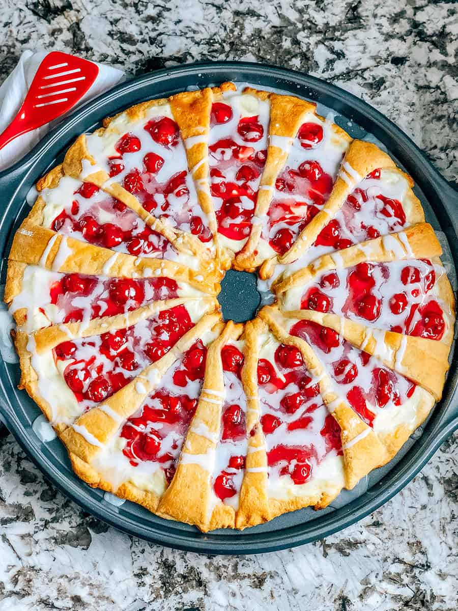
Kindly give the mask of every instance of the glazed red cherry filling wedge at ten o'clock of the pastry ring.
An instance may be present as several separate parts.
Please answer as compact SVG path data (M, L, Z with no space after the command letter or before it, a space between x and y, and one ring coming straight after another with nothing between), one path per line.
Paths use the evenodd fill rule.
M136 257L165 256L172 244L154 232L125 203L82 183L73 200L51 223L51 229L95 246Z

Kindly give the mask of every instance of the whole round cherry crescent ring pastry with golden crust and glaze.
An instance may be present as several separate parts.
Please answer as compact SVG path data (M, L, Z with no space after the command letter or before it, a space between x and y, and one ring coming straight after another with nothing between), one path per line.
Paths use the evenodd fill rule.
M341 489L354 488L372 469L388 463L442 397L454 335L454 294L440 262L440 243L412 191L412 178L376 145L352 140L319 117L315 108L294 96L251 87L239 92L231 82L146 101L104 120L94 134L79 136L63 163L38 180L37 200L13 238L4 301L17 325L13 339L20 357L20 388L40 406L65 444L73 470L90 486L139 503L162 518L194 524L203 532L245 529L287 511L327 507ZM215 109L222 113L219 118ZM233 116L240 124L231 123ZM156 126L162 120L161 144L150 123ZM246 125L239 129L243 122L252 130ZM225 123L230 126L226 131ZM300 135L304 125L321 130L321 145L307 137L304 141ZM126 137L136 141L133 148L120 152L119 143ZM230 142L222 147L220 159L211 158L216 138ZM162 166L147 171L145 153L161 152L167 178L156 181ZM229 154L237 159L233 166L227 163ZM121 162L126 169L112 172L112 162ZM277 181L288 172L304 178L304 172L300 174L304 163L305 173L312 168L319 174L324 166L332 184L318 199L305 187L301 192L290 189L289 196L299 199L291 207L296 216L278 226L295 227L296 238L286 250L276 252L271 244L275 219L271 227L270 215L278 202L286 206ZM227 175L212 182L212 172L219 168ZM242 169L244 178L237 178ZM131 188L125 180L128 172L151 181L151 192ZM179 184L183 191L167 192L164 185L177 174L184 176ZM307 188L313 187L312 182ZM226 183L245 195L239 197L236 190L229 194L234 196L234 211L224 217L221 202L227 203L228 197L217 196L217 191L224 194ZM150 196L156 198L154 205L151 200L144 205ZM365 211L368 201L373 208ZM380 202L386 206L382 211ZM189 222L169 215L169 205L175 216L189 213ZM224 222L243 217L250 205L254 208L249 233L243 240L228 238L222 231ZM316 210L308 218L311 205ZM350 215L349 205L354 207ZM107 224L122 226L122 236L106 243L91 238L85 229L88 215L98 223L93 229L97 235ZM354 224L345 224L352 215ZM62 222L56 222L60 217ZM192 218L197 219L199 231L193 229ZM376 218L373 232L364 235L372 218ZM330 221L337 223L343 241L319 243ZM127 244L134 234L129 233L128 222L145 243L159 240L161 246L154 252L131 254L135 249L131 244L129 250ZM404 272L399 284L402 270L415 265L423 265L423 276L418 279L413 272ZM224 323L216 296L231 266L257 269L261 279L270 279L277 304L264 307L245 324ZM392 266L398 274L393 285L398 282L396 291L404 292L406 303L410 295L416 299L421 293L410 316L423 323L425 316L434 319L430 323L440 329L437 338L421 331L421 326L421 332L412 331L412 325L410 331L407 325L405 332L399 331L386 313L385 302L385 310L372 321L344 308L350 294L346 274L361 266L379 266L385 272ZM308 297L302 299L310 288L323 288L320 283L329 274L340 278L341 305L312 309ZM374 290L382 300L380 274L374 278ZM132 283L156 279L164 287L175 283L176 292L129 301L135 296ZM101 283L97 298L84 292L85 282ZM101 304L111 282L115 287L125 283L119 289L124 301L120 309L111 310L117 313L104 315L108 306L93 310L93 301L99 299ZM61 311L53 301L51 292L57 285L67 310L62 306ZM422 313L421 307L429 302L435 309ZM79 318L73 312L77 305ZM113 349L114 356L111 348L102 348L102 338L117 333L125 337L126 329L136 329L129 344L133 351L135 342L140 345L151 338L161 345L175 332L177 309L184 309L191 321L186 332L183 329L183 335L154 362L140 361L133 377L127 376L128 368L123 369L126 343ZM156 324L159 331L154 335L151 329ZM334 360L316 337L307 334L310 325L325 336L334 334L328 346L328 353L340 351ZM74 392L67 382L65 371L73 362L71 357L57 357L56 349L65 355L78 342L89 350L89 359L101 363L111 359L124 371L123 386L104 400L89 400L86 391ZM285 350L296 354L297 362L291 366L279 360ZM353 360L342 364L346 354ZM204 358L205 365L198 360ZM191 365L180 369L186 359ZM379 381L365 380L369 398L365 409L357 409L344 376L350 367L367 363ZM343 373L338 373L338 364ZM271 372L268 379L263 367ZM381 370L382 378L374 373ZM103 377L103 371L100 367L90 375ZM358 369L352 371L354 386L361 387ZM389 394L384 403L377 395L383 379L388 382L382 390ZM175 398L175 408L170 402L158 407L156 395L161 392ZM292 398L299 401L293 407L286 401ZM153 408L148 401L156 401ZM194 407L184 417L186 401ZM178 410L176 417L170 415L172 409ZM147 420L140 426L137 417ZM157 448L152 454L142 450L140 456L132 449L129 455L126 428L133 426L151 441L158 422L165 422L163 439L168 439L165 446L170 442L169 454L175 452L172 458L167 447L161 450L163 455ZM167 433L169 425L172 433Z

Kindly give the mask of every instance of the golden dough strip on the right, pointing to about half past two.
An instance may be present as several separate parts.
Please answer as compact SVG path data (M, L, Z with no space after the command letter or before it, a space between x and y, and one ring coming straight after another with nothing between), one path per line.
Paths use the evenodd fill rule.
M438 257L442 247L429 223L418 223L398 233L353 244L343 251L332 252L315 259L307 267L280 278L274 284L277 295L302 287L330 269L349 268L363 262L388 263L407 259Z

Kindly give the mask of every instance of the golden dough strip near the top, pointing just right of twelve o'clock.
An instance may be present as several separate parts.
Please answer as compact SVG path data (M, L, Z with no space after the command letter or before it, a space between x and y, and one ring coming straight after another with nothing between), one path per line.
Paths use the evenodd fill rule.
M323 117L316 114L316 104L314 103L275 93L270 94L270 100L271 121L269 124L267 161L261 177L261 188L258 192L252 231L249 240L236 257L236 266L249 271L253 271L260 266L267 257L276 256L274 249L269 246L266 240L261 238L261 234L263 233L263 227L264 232L268 232L268 213L274 199L275 180L283 167L288 164L291 145L294 137L297 136L300 125L310 121L319 125L325 123ZM351 137L340 127L332 124L329 134L329 142L331 141L335 142L343 153L351 142ZM319 157L319 152L317 152L317 156ZM294 169L296 169L296 166L294 166ZM297 197L300 199L300 194Z

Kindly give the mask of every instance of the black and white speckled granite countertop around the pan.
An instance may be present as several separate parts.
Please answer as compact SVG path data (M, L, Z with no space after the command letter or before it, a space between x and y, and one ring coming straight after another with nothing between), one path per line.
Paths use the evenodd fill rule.
M129 75L216 59L296 68L369 101L456 180L453 0L4 0L0 41L0 82L24 49L37 48ZM454 436L398 496L325 540L255 557L206 557L92 518L2 430L0 611L455 611L457 456Z

